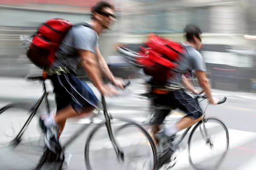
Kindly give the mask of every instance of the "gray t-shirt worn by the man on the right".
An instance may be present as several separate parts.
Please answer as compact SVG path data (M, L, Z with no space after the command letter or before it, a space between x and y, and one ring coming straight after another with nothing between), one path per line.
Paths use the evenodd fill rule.
M179 65L174 71L171 70L173 77L168 79L168 82L174 85L182 84L182 74L185 74L189 69L197 71L207 71L204 57L194 47L188 44L182 43L186 48L186 54L181 57L181 60L177 62Z

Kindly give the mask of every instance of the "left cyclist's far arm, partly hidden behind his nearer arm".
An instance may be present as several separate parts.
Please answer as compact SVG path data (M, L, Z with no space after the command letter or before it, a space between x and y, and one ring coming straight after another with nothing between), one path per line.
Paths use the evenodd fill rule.
M106 60L104 59L104 57L102 56L102 54L99 51L99 47L96 47L96 55L99 59L99 67L102 71L102 73L108 77L108 79L113 82L115 77L113 76L112 72L110 71L110 69L108 68L108 64L106 62Z

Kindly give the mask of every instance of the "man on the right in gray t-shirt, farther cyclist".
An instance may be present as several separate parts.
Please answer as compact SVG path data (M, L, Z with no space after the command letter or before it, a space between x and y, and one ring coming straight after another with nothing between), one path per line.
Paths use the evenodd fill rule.
M183 117L179 122L177 122L172 127L168 127L165 130L159 132L161 125L169 114L169 109L157 110L154 114L153 121L151 122L152 133L154 134L155 142L164 147L166 144L171 144L168 147L167 155L161 158L162 162L158 165L161 167L165 162L169 162L172 153L178 148L179 141L176 139L176 133L180 130L186 129L195 125L202 119L203 112L200 108L198 100L188 93L187 90L196 92L193 87L187 82L184 74L190 70L195 70L195 75L198 78L199 85L203 88L206 93L209 103L216 105L219 101L212 98L210 91L209 82L206 78L206 65L204 58L198 51L201 47L201 30L198 26L188 25L185 28L186 42L183 46L186 48L186 54L180 56L180 61L178 62L178 68L171 70L172 78L168 79L166 86L169 85L171 89L167 94L157 95L153 101L154 105L164 105L171 106L173 109L179 108L183 111L186 116ZM184 86L184 88L183 88ZM186 90L185 90L186 88Z

